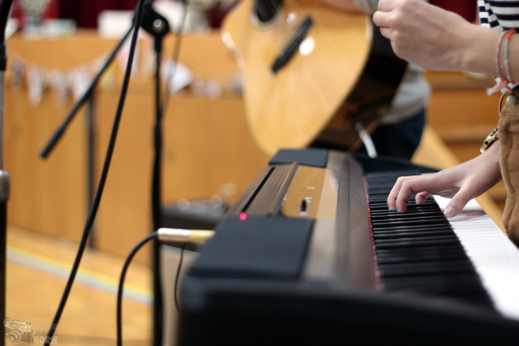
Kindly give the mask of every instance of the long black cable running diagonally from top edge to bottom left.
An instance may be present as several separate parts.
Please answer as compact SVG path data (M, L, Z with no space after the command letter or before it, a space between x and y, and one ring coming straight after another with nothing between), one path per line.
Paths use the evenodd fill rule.
M115 148L115 141L117 139L117 133L119 129L119 123L121 120L121 114L122 114L122 108L124 107L125 100L126 100L126 94L128 91L128 85L130 81L130 75L131 75L131 66L133 64L133 57L135 53L135 48L137 44L137 38L139 33L139 27L141 26L141 20L142 20L142 9L143 9L144 0L139 0L139 3L136 7L136 14L135 14L135 25L133 29L133 35L131 38L131 44L130 44L130 52L128 56L128 64L126 66L125 71L125 77L122 82L121 87L121 94L119 98L119 103L117 105L117 111L114 118L114 124L112 128L112 133L110 135L110 142L108 143L108 148L106 151L106 157L103 164L103 169L101 171L101 176L99 178L99 185L98 189L95 193L95 198L92 203L90 212L88 213L87 221L85 224L85 229L83 230L83 237L81 237L81 242L79 243L79 249L76 255L76 259L74 260L74 265L72 267L69 280L67 281L67 284L65 286L65 290L63 292L63 296L61 298L60 304L58 306L58 310L56 311L56 315L54 316L54 320L52 321L52 326L57 326L61 317L61 314L63 313L63 309L65 308L65 303L67 298L69 297L70 291L72 289L72 284L74 283L74 279L76 277L77 270L79 269L79 263L81 262L81 257L83 257L83 253L85 251L85 247L87 245L88 235L90 233L90 230L92 228L95 215L97 214L97 211L99 209L99 203L101 201L101 195L103 192L104 184L106 183L106 177L108 175L108 170L110 168L110 163L112 161L112 155ZM47 338L45 339L45 344L49 344L52 340L52 336L54 335L55 328L50 328L47 334Z

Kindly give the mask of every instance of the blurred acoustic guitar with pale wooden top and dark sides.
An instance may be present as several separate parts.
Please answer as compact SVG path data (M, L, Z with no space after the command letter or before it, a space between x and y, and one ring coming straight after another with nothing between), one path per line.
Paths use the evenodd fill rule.
M257 145L358 146L386 112L405 71L370 18L319 0L241 0L222 39L243 76L245 111Z

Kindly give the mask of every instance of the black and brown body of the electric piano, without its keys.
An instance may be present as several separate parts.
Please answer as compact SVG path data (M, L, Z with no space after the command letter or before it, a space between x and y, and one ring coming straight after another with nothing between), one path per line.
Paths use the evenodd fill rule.
M519 322L481 287L387 289L366 176L409 170L434 171L334 150L279 151L184 276L179 345L517 344Z

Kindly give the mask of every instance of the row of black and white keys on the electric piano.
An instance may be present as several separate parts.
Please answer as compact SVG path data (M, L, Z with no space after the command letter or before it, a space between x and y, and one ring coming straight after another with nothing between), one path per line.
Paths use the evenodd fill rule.
M407 212L387 209L400 175L366 174L377 278L385 292L413 290L491 304L519 319L519 251L475 200L452 219L447 198L409 201Z

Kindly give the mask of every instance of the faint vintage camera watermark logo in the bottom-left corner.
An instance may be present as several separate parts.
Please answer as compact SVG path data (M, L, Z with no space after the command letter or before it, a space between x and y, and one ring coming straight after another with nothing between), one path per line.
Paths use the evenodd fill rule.
M47 333L51 328L54 330L54 336L48 340ZM58 331L54 324L32 324L7 318L4 319L4 335L11 343L58 343Z

